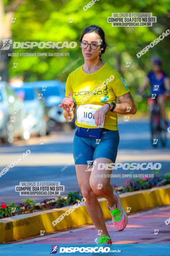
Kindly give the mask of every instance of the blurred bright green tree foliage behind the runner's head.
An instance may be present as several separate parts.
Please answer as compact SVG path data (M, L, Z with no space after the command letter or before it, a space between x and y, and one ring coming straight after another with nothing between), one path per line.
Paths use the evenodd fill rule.
M4 1L5 10L15 1ZM14 13L16 21L12 23L12 40L17 42L48 42L48 41L76 41L83 29L95 24L101 26L107 36L110 46L102 60L114 67L124 75L129 87L137 88L143 83L143 78L149 71L151 57L160 56L163 59L164 70L169 72L169 36L160 41L153 48L141 56L136 54L153 42L162 32L168 29L170 0L161 1L134 1L127 3L121 1L96 1L95 4L83 10L88 3L83 0L62 1L25 1L18 5ZM112 27L107 23L111 13L144 12L157 16L157 23L152 27ZM69 17L73 18L69 23ZM13 52L69 52L68 56L55 57L12 57L9 63L10 77L23 75L25 81L60 79L66 81L67 76L75 68L83 64L83 58L67 72L62 72L67 66L82 56L79 45L75 49L14 49ZM18 67L12 68L17 62ZM126 62L131 62L130 67L125 67Z

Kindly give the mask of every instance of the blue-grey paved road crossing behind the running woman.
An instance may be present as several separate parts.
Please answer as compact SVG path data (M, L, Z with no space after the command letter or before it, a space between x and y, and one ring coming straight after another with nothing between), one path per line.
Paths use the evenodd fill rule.
M158 145L154 149L150 139L148 120L136 120L131 122L119 121L120 143L118 148L117 163L161 163L159 174L169 172L170 162L170 140L167 141L166 148ZM67 133L57 132L50 136L41 138L31 138L29 141L16 141L14 145L1 145L0 147L0 170L17 159L23 152L30 149L31 154L17 166L0 177L0 199L6 203L11 201L20 202L28 196L20 196L15 192L15 186L19 182L35 181L60 181L65 186L66 195L70 191L78 191L79 186L75 175L75 167L72 155L72 140L74 131ZM170 134L167 133L168 138ZM40 145L40 139L44 139L44 144ZM63 172L61 169L70 163ZM130 170L114 170L115 174L129 174ZM152 170L136 170L137 174L154 174ZM124 185L127 178L111 178L111 184ZM45 196L53 198L54 196ZM30 196L30 198L41 202L44 196Z

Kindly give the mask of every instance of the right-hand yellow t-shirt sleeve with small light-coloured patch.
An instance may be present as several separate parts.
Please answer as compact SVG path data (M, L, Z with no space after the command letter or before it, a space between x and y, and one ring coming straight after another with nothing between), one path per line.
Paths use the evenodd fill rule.
M130 91L125 80L119 73L116 73L116 75L114 76L113 90L116 97L122 96Z

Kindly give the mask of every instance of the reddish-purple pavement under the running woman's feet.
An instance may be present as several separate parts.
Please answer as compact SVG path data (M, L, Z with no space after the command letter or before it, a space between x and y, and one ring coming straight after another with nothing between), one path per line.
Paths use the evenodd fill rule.
M106 225L112 243L170 243L170 224L165 224L169 217L170 206L156 207L130 214L128 224L123 231L118 232L110 220L106 221ZM158 234L154 234L154 229L159 230ZM94 225L84 225L80 228L55 232L10 244L94 244L96 237L97 230Z

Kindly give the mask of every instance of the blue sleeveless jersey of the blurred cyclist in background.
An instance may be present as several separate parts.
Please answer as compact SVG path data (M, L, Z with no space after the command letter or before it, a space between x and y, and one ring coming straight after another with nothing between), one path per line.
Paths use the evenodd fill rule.
M164 92L166 91L164 87L164 79L167 78L167 75L164 72L161 72L161 78L160 80L158 80L155 73L153 71L150 71L147 74L147 77L150 81L151 93L156 93L156 95L164 94Z

